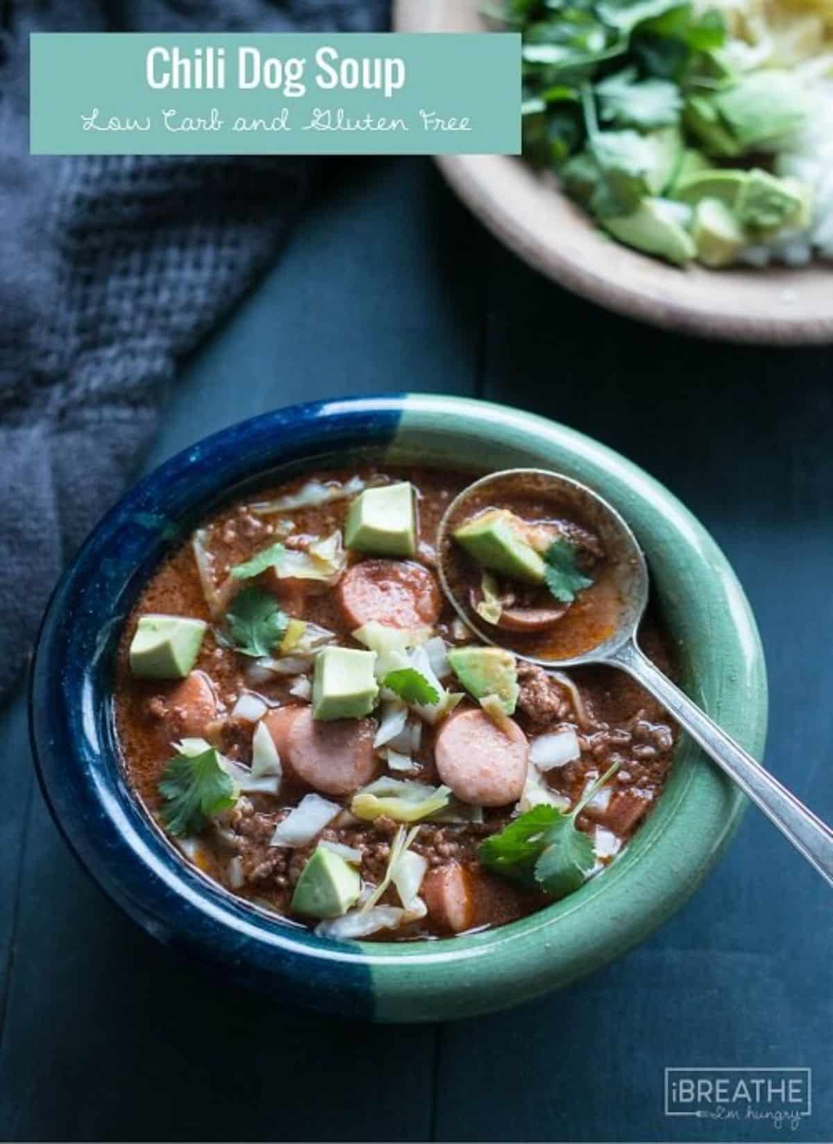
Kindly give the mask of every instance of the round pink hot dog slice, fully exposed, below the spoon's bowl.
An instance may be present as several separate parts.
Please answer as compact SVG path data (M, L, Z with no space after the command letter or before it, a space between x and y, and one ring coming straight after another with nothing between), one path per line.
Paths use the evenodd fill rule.
M517 723L508 718L501 729L479 708L447 718L434 747L441 780L477 807L505 807L521 797L529 753Z

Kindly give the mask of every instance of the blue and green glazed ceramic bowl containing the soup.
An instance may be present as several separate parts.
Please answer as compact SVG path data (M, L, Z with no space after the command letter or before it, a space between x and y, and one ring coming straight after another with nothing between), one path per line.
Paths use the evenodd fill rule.
M269 470L390 460L536 466L586 482L646 553L685 690L753 754L767 722L763 656L744 594L708 533L661 485L563 426L503 406L399 395L279 410L180 453L87 540L51 599L32 673L32 740L70 847L160 940L289 1002L375 1020L435 1020L568 985L645 938L720 857L743 796L692 742L622 857L577 893L492 932L444 942L333 943L281 924L185 865L128 788L113 730L119 628L162 554L232 488Z

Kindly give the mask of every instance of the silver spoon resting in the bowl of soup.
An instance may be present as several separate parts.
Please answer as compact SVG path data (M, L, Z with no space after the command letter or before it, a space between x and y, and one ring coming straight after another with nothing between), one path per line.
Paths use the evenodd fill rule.
M538 658L518 651L501 629L483 625L471 607L454 593L462 583L466 558L452 537L453 530L475 513L499 508L521 492L545 498L558 515L582 522L601 540L619 602L618 621L602 642L560 659ZM555 514L554 514L555 515ZM468 485L451 502L437 533L438 572L443 590L460 618L486 643L507 646L518 659L544 668L608 664L632 675L698 742L719 766L775 823L807 860L833 885L833 831L795 795L782 786L752 755L738 746L641 651L636 634L648 604L648 566L633 532L605 500L586 485L544 469L505 469Z

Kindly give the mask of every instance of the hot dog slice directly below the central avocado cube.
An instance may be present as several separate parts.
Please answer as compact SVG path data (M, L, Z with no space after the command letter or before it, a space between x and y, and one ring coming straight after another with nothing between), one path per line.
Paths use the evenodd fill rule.
M299 779L324 794L352 794L370 782L378 762L373 750L376 724L370 718L314 720L309 707L278 725L268 723L281 758ZM275 715L279 715L276 712ZM272 716L267 715L269 720ZM278 721L276 721L278 722ZM285 746L281 749L280 742Z

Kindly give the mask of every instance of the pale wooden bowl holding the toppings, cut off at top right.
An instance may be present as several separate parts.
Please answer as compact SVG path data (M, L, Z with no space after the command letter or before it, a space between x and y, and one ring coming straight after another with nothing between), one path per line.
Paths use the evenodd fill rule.
M487 31L481 0L396 0L402 32ZM460 198L522 259L568 289L657 326L728 341L833 341L828 264L685 270L621 246L521 159L439 156Z

